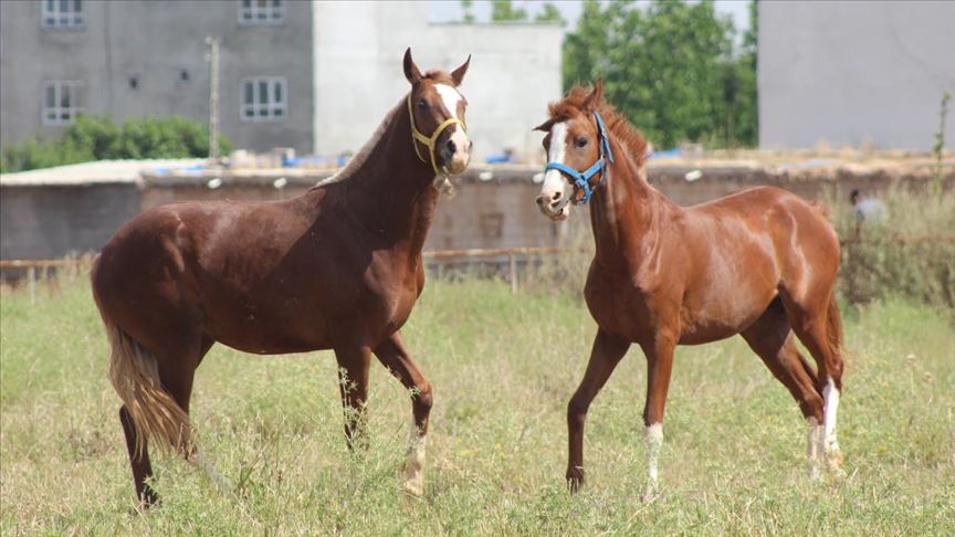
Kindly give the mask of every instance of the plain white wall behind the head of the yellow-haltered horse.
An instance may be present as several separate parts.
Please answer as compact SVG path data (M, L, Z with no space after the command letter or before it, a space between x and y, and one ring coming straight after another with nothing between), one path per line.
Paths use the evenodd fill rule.
M451 71L472 54L461 86L474 157L505 147L543 158L531 129L562 96L560 28L429 24L428 2L315 2L315 152L356 150L408 93L401 59ZM541 155L538 155L541 154Z

